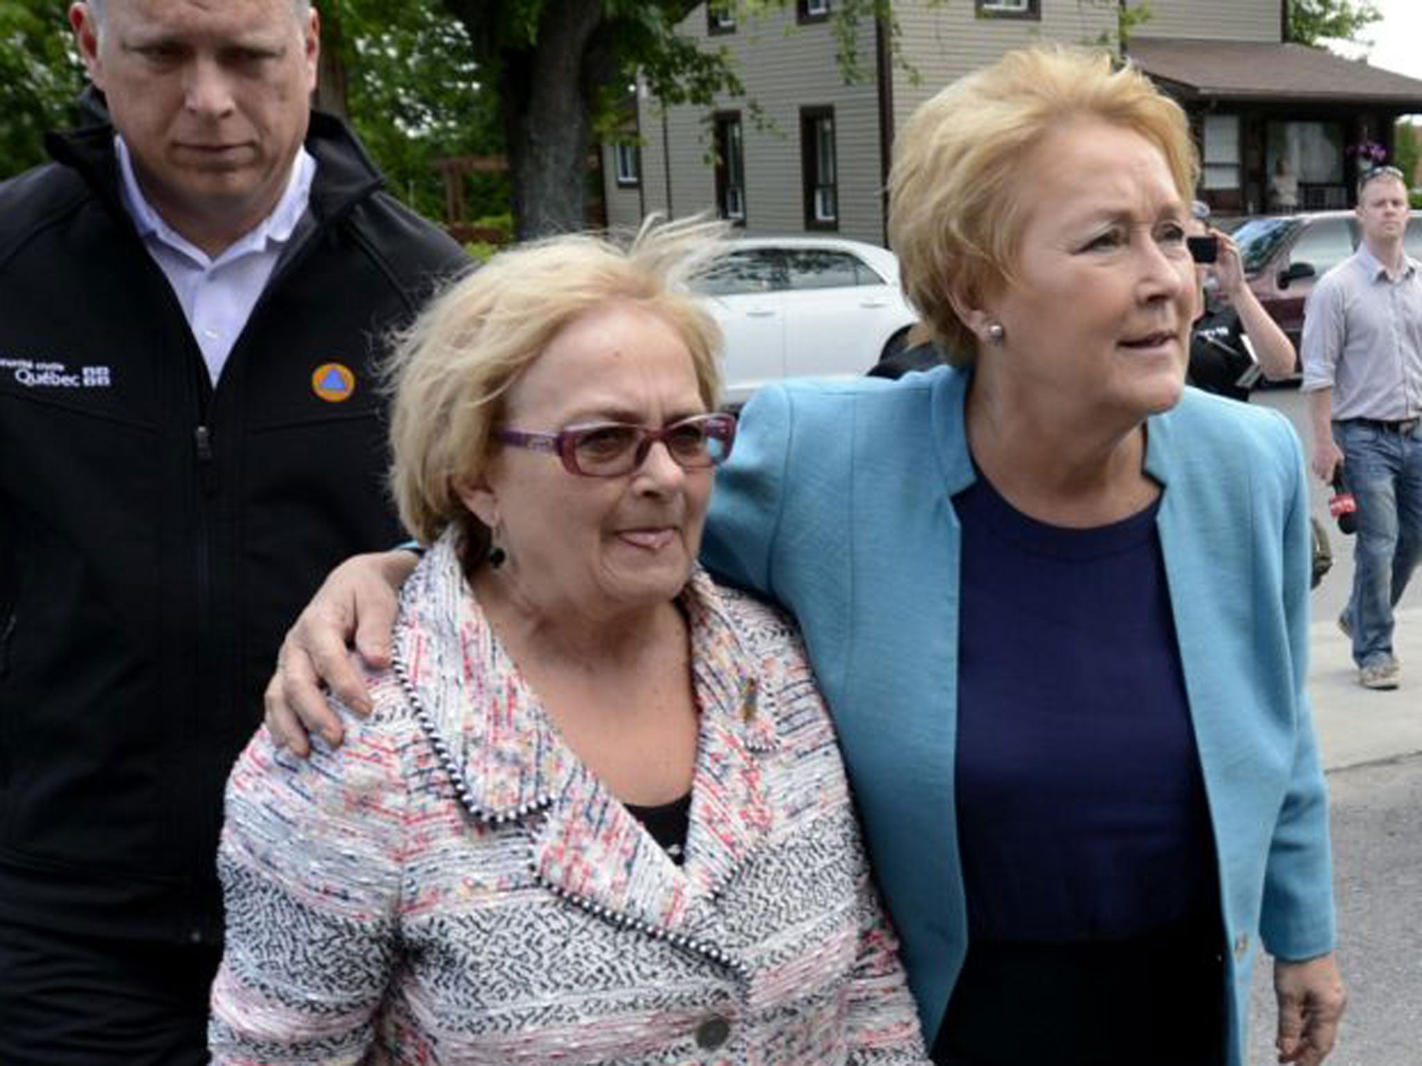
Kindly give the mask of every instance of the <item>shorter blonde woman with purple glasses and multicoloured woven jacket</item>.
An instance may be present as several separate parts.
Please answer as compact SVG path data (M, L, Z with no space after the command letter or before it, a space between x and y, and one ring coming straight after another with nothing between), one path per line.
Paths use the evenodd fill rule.
M705 227L495 257L402 340L428 546L368 718L228 789L216 1063L926 1063L788 618L697 567Z

